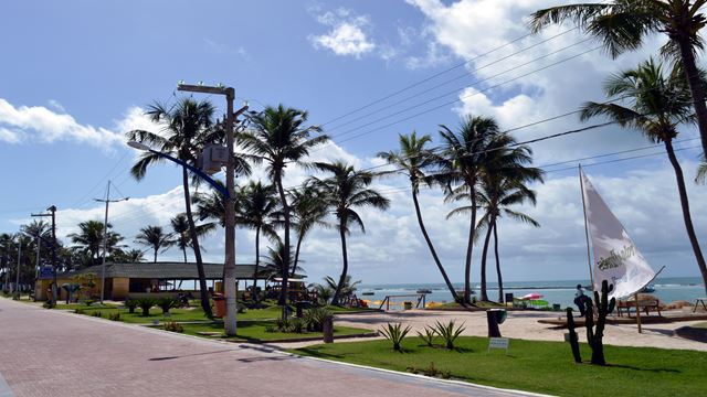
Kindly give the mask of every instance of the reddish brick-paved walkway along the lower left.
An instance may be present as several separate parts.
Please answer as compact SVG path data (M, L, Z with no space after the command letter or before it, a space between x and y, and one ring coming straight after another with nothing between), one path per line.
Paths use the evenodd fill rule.
M14 396L513 396L295 357L0 299L0 379ZM0 382L0 396L10 395Z

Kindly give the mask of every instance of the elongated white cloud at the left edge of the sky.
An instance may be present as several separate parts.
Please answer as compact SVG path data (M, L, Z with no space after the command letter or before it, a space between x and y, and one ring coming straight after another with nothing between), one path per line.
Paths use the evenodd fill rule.
M123 133L103 127L82 125L70 115L54 112L43 106L13 106L0 98L0 140L52 143L72 141L109 150L125 142Z

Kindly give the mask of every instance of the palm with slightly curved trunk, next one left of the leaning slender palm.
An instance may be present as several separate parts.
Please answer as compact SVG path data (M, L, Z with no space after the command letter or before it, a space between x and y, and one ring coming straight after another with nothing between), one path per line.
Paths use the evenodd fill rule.
M373 178L377 176L372 172L356 170L344 161L335 161L333 163L316 162L314 167L331 174L331 178L325 180L312 176L310 181L321 191L327 207L330 208L338 221L337 228L341 238L344 266L337 289L331 299L331 304L338 304L349 268L346 235L351 232L352 225L359 226L361 232L366 233L363 221L355 208L373 207L384 211L390 206L390 200L383 197L376 190L369 189Z

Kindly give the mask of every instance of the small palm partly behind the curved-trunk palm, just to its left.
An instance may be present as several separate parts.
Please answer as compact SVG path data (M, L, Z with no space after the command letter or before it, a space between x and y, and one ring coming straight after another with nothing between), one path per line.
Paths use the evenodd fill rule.
M289 276L294 277L295 269L299 265L299 250L305 237L315 226L327 227L328 224L323 221L327 215L326 203L316 186L305 183L300 189L289 191L289 196L292 198L294 227L297 232L295 260L289 272Z

